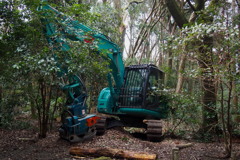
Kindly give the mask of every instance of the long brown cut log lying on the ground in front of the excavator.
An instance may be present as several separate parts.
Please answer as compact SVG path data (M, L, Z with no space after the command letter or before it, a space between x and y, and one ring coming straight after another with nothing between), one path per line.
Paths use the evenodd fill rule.
M71 155L77 156L90 156L90 157L112 157L112 158L121 158L121 159L133 159L133 160L156 160L156 154L149 153L139 153L139 152L131 152L124 151L120 149L112 149L112 148L81 148L81 147L71 147L69 150Z

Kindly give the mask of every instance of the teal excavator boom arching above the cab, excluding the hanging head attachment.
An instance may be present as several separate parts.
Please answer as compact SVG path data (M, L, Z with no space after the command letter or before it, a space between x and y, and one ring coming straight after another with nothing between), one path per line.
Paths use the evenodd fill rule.
M66 39L90 43L95 46L96 53L102 52L109 59L111 73L108 75L109 87L106 90L110 94L111 100L108 99L106 101L111 101L107 105L112 105L107 108L115 107L124 81L124 64L119 46L113 43L107 36L71 19L46 2L43 3L39 10L42 11L44 17L49 17L49 19L44 18L43 22L50 45L58 46L62 51L69 51L71 47L66 42ZM112 82L112 79L114 82ZM106 92L104 93L106 94Z

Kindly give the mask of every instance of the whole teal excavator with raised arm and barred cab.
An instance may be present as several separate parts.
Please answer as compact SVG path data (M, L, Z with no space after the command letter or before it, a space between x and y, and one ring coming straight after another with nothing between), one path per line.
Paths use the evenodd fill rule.
M86 87L79 76L72 75L68 77L69 84L62 87L68 100L59 129L60 137L78 142L95 134L104 134L113 126L128 126L145 128L148 140L160 140L161 119L168 115L167 100L160 94L164 73L153 64L124 67L122 51L117 44L59 12L46 0L42 1L39 11L43 15L45 36L54 50L68 53L71 47L67 40L94 43L96 54L107 56L111 69L107 76L108 87L99 94L97 111L117 118L86 114ZM62 67L62 72L67 74L67 68Z

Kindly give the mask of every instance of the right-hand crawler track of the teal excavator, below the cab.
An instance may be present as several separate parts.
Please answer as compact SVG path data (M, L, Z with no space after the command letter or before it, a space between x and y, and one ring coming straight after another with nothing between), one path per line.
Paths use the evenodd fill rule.
M147 139L157 142L162 139L162 122L160 120L144 120L147 124Z

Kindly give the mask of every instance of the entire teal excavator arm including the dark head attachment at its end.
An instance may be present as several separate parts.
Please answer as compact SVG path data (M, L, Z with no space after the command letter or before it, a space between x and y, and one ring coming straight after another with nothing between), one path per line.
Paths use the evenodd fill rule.
M106 36L82 25L78 21L72 20L69 16L57 11L55 8L42 1L38 8L42 14L42 24L46 39L53 51L61 51L68 59L71 54L71 46L68 40L89 43L94 48L94 52L105 54L110 60L109 67L112 72L108 75L109 93L113 96L112 101L116 101L123 83L124 65L120 48L111 42ZM81 53L79 53L81 54ZM100 54L101 55L101 54ZM54 58L58 60L58 56ZM86 87L77 75L69 74L68 67L57 64L60 68L59 77L67 76L68 84L62 86L67 92L67 110L62 114L62 126L59 129L60 136L71 142L79 142L88 139L96 134L95 124L98 117L87 115ZM114 79L114 87L113 82ZM113 103L110 103L111 105Z

